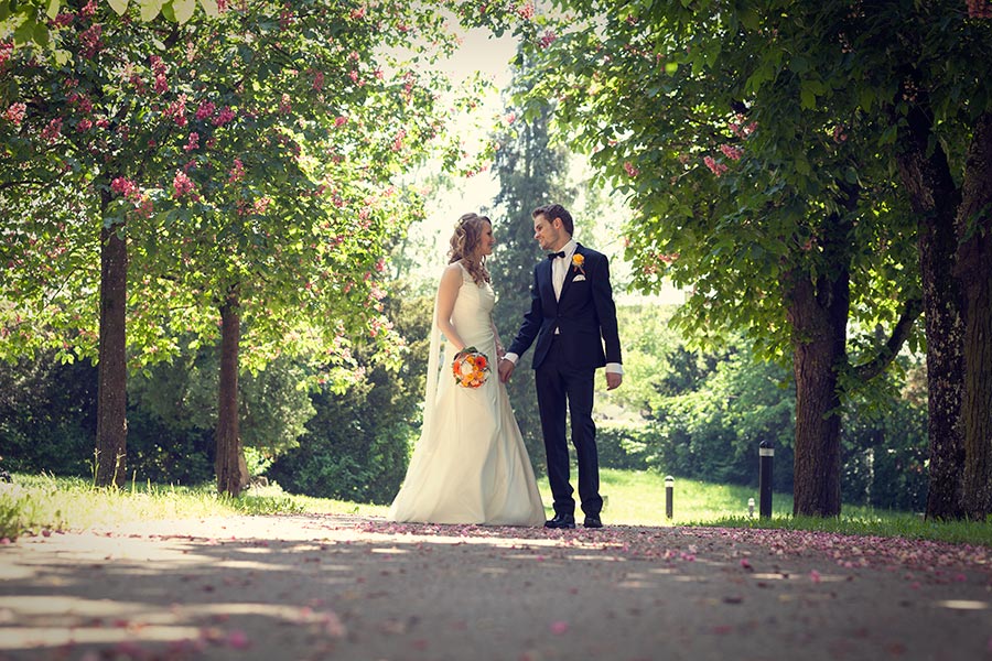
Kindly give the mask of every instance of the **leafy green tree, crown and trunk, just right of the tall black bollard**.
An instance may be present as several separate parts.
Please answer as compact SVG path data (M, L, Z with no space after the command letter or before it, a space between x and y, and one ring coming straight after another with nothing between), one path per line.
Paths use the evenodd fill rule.
M791 353L796 513L837 514L845 392L893 359L919 310L899 240L912 228L862 139L874 118L816 102L823 83L804 79L806 51L779 43L772 10L560 4L578 20L531 24L533 97L557 99L572 142L629 195L644 290L671 277L692 288L684 328ZM847 335L880 324L881 338Z

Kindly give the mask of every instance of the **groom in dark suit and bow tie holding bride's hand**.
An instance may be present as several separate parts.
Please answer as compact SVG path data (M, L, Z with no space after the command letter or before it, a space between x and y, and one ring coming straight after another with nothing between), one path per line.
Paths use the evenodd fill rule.
M575 528L575 499L569 481L565 411L571 414L572 444L579 459L579 498L586 528L602 528L596 425L592 420L596 368L606 368L606 389L623 380L616 306L606 257L572 238L572 216L558 204L531 213L533 238L548 259L533 268L530 311L499 361L499 379L514 373L517 360L533 350L535 384L548 457L548 481L554 518L546 528ZM605 345L605 351L604 351Z

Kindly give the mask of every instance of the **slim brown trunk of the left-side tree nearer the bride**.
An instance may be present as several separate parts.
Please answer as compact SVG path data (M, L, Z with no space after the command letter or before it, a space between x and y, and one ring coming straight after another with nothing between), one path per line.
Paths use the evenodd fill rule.
M237 496L241 492L239 465L241 438L238 430L238 344L241 317L237 288L228 291L220 305L220 387L217 407L217 491Z

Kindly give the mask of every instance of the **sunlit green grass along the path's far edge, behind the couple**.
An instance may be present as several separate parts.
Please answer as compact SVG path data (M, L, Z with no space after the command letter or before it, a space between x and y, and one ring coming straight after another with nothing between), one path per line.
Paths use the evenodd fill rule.
M601 472L601 492L606 524L722 525L774 528L844 534L904 537L992 546L986 523L925 521L905 512L876 511L845 506L835 519L791 516L791 496L775 494L770 519L747 513L747 499L758 500L757 489L713 485L676 478L672 513L665 516L666 494L661 475L647 472ZM547 480L539 481L550 512ZM233 514L331 513L385 516L387 506L362 505L285 494L278 486L250 489L240 498L218 496L213 487L130 485L123 489L96 488L78 478L15 475L0 484L0 538L17 539L43 530L78 530L112 527L129 521L224 517ZM581 512L580 512L581 514Z

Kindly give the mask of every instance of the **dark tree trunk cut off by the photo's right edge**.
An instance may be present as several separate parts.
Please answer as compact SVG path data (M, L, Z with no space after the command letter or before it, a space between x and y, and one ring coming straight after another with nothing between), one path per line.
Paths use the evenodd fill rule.
M975 126L956 225L964 300L963 508L984 521L992 512L992 113Z

